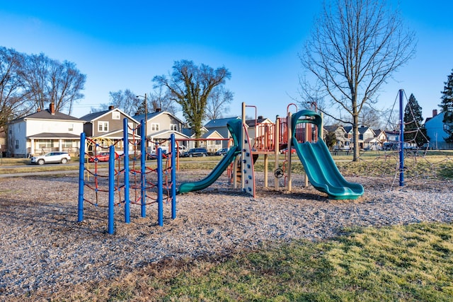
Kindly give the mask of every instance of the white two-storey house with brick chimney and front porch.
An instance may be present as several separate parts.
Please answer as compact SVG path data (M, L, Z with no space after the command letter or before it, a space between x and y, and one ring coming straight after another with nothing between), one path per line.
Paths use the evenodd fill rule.
M8 155L30 157L50 151L77 153L84 121L49 109L38 110L31 115L8 123Z

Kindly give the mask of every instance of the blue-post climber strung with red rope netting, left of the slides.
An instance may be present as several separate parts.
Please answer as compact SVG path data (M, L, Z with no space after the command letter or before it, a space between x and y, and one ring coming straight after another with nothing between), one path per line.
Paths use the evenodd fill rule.
M81 156L79 168L79 221L83 220L84 202L96 207L108 207L109 233L113 233L113 207L122 204L124 204L126 223L130 222L130 204L139 204L142 217L145 217L147 204L157 203L159 225L162 226L164 200L167 202L171 200L171 216L172 219L176 218L174 152L164 155L156 144L157 153L148 153L146 146L154 143L144 137L143 121L139 127L132 129L125 120L123 133L124 138L110 146L108 141L86 139L85 134L81 134L81 153L85 156ZM122 152L117 151L121 143ZM91 146L91 148L88 147L88 152L85 152L86 145ZM172 135L171 150L175 150L174 146L174 135ZM98 152L106 148L109 149L108 153ZM85 165L85 158L88 158L87 165ZM156 161L147 161L149 158L154 158ZM107 160L108 165L102 165L103 160ZM89 163L93 163L93 166ZM87 188L86 193L85 188ZM133 196L132 199L131 196Z

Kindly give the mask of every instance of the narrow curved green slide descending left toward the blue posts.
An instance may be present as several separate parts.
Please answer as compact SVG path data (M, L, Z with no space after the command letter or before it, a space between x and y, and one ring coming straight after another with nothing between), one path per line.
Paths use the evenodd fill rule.
M197 190L203 190L206 187L212 185L214 181L219 178L220 175L228 168L228 165L234 161L234 158L241 153L241 149L239 148L239 141L242 137L242 120L230 120L227 123L227 127L229 132L231 133L231 137L233 137L233 146L230 147L228 153L224 155L224 157L217 163L214 167L214 170L211 171L206 178L199 180L197 182L183 182L179 188L178 193L187 193Z

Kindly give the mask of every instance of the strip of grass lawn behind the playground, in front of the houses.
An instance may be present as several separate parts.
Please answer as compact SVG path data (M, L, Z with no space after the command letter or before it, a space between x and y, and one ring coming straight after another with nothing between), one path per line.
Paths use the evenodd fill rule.
M453 179L453 151L428 151L425 156L406 156L406 177ZM222 156L179 158L180 170L212 170ZM352 162L352 155L333 156L338 169L343 175L390 176L393 177L398 167L398 152L368 151L362 153L360 160ZM73 165L30 165L29 158L0 158L0 174L26 173L46 170L77 170L79 158L72 158ZM147 161L148 164L156 161ZM280 168L286 165L285 156L280 155ZM75 164L75 165L74 165ZM102 163L105 164L105 163ZM19 168L8 168L9 165L21 165ZM91 164L92 165L92 164ZM255 170L264 170L263 156L258 158ZM268 171L273 174L275 158L269 156ZM293 173L304 173L304 167L296 154L292 155Z

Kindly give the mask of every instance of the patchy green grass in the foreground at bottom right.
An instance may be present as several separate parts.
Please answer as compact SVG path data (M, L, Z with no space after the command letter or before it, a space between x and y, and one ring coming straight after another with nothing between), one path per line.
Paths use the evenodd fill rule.
M351 228L227 257L169 260L61 301L452 301L453 226ZM61 293L60 293L61 294ZM33 296L31 297L33 298ZM56 301L59 301L57 299Z

